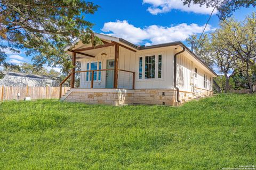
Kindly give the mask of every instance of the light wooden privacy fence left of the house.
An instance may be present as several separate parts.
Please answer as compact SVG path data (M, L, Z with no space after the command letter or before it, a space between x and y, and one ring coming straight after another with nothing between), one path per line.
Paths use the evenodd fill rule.
M65 94L70 88L62 87L62 94ZM25 97L31 99L58 99L60 87L0 87L0 99L4 100L18 100L18 93L20 93L19 100Z

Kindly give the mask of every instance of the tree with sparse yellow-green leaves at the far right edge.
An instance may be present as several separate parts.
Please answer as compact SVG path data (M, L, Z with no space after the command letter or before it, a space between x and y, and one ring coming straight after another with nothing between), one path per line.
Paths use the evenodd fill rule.
M220 27L225 30L219 39L226 46L232 48L234 55L239 62L236 62L240 71L244 72L250 92L253 92L253 72L256 70L256 13L247 16L242 22L235 21L233 18L224 20Z

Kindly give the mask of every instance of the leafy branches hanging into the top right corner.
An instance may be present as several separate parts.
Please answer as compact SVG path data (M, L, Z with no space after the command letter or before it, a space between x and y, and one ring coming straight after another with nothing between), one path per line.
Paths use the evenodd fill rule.
M241 7L256 6L256 1L254 0L183 0L184 5L190 6L193 4L206 5L206 7L214 7L216 5L218 10L218 16L220 19L225 19L231 16L231 14Z

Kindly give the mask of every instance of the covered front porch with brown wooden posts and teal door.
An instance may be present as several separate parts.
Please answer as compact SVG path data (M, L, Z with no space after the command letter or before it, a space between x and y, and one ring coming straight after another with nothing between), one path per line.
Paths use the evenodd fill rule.
M78 48L68 49L68 53L72 55L74 67L67 78L60 83L60 98L63 95L61 94L62 85L69 78L70 88L73 90L135 89L135 64L132 64L132 69L130 66L130 70L126 69L127 65L122 65L125 61L120 61L120 58L124 60L125 57L122 55L127 53L132 53L135 58L137 51L112 40L102 39L102 42L103 45L80 45ZM79 71L76 71L77 61L82 61Z

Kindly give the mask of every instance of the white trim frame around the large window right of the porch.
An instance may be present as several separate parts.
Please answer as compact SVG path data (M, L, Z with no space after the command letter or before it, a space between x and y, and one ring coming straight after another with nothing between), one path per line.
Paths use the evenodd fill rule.
M158 59L159 59L159 55L162 55L162 68L161 68L161 78L158 78ZM145 79L145 58L147 56L155 56L155 78L151 78L151 79ZM144 54L144 55L139 55L137 56L137 71L138 71L138 75L136 76L136 80L137 81L159 81L159 80L163 80L164 77L164 72L163 72L163 68L164 68L164 57L165 54L164 52L159 52L159 53L148 53L148 54ZM140 58L142 57L142 77L141 79L139 78L139 74L140 74Z

